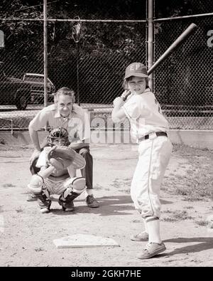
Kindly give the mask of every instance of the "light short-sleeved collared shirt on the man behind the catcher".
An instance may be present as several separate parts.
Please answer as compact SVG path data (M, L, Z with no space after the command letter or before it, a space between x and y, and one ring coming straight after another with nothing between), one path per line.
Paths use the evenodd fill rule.
M83 140L89 143L90 139L90 124L87 112L78 105L73 105L73 110L66 118L60 115L55 104L44 107L31 120L29 127L34 131L48 126L50 128L64 127L69 134L69 141L82 142Z

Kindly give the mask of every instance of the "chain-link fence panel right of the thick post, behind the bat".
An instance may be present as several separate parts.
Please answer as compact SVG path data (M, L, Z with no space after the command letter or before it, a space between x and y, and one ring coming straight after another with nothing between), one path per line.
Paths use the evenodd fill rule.
M197 24L197 31L155 70L155 94L172 127L212 129L213 53L207 34L213 17L157 22L155 60L192 22Z

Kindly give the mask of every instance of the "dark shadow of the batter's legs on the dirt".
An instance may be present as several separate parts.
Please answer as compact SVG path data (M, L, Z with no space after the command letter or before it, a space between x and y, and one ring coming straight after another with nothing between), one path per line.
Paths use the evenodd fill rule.
M213 238L212 237L193 237L193 238L173 238L168 240L163 240L164 243L197 243L193 245L183 246L181 248L175 249L167 255L176 255L183 253L197 253L203 250L209 250L213 248Z

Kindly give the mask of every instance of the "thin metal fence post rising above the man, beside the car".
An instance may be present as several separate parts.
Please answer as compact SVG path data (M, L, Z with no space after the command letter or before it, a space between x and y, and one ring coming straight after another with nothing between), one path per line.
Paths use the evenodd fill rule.
M48 22L47 0L43 0L43 60L44 60L44 106L48 105Z

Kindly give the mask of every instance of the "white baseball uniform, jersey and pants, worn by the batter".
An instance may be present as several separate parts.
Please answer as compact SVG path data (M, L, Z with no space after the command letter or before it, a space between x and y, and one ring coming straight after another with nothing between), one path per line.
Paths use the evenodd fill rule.
M168 121L149 89L140 95L131 95L122 108L131 123L131 137L138 142L139 156L131 183L131 198L143 218L160 218L160 185L173 145L168 137L157 137L156 132L168 132ZM147 134L148 139L145 138Z

